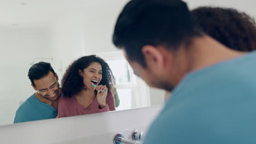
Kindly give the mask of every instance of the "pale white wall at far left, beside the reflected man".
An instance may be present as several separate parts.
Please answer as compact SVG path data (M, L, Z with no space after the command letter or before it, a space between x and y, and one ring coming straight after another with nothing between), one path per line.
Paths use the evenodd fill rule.
M0 29L0 125L10 124L21 101L33 94L28 69L34 58L53 57L39 29Z

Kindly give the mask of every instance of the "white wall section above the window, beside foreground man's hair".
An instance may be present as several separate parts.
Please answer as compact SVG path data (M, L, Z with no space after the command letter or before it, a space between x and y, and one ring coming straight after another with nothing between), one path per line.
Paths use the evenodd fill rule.
M112 44L114 25L127 0L104 1L85 10L85 50L96 54L118 49Z

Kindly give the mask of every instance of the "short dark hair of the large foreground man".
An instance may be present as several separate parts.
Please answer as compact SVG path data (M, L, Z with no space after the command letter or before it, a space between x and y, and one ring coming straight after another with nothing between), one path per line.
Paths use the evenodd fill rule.
M124 48L131 61L146 67L144 45L177 49L202 35L187 4L180 0L132 0L118 17L113 43Z

